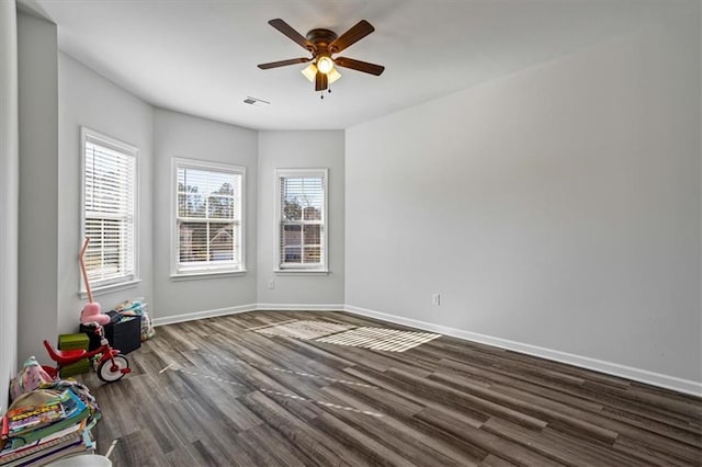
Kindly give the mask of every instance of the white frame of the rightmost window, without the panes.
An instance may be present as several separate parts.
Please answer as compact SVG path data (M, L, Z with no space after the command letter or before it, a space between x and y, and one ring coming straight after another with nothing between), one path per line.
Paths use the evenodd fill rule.
M322 206L321 206L321 248L319 263L287 263L284 264L281 258L281 230L282 230L282 178L321 178L322 179ZM275 264L273 272L276 274L328 274L329 273L329 169L328 168L304 168L304 169L275 169ZM304 225L304 219L302 220ZM301 234L302 235L302 234Z

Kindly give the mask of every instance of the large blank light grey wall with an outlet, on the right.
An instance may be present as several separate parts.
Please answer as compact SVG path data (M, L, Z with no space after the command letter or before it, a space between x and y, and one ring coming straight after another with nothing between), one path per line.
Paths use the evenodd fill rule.
M702 392L691 8L349 129L347 304Z

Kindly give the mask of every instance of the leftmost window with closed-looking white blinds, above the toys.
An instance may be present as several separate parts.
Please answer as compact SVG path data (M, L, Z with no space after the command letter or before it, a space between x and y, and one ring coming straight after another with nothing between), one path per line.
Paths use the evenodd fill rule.
M136 281L138 149L81 128L82 235L92 289ZM84 284L81 292L84 292Z

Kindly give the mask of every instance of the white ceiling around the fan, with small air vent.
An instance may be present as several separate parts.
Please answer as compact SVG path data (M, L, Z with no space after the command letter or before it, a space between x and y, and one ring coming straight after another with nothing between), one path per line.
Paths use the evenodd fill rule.
M58 24L63 52L160 107L257 129L348 128L655 23L670 0L20 0ZM340 69L320 100L307 53L268 24L305 35L375 32L343 56L386 67ZM271 102L258 107L247 96Z

